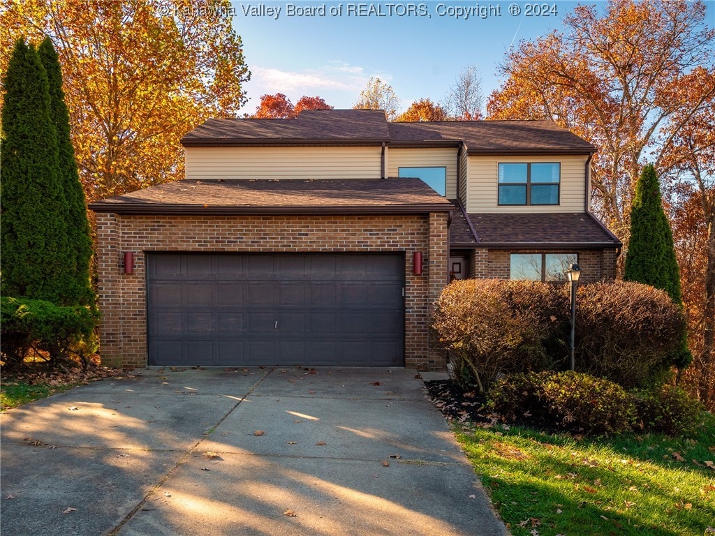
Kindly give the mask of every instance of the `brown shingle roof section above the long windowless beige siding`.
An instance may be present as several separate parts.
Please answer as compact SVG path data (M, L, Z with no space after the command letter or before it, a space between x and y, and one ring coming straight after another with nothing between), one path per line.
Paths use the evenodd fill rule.
M390 141L381 110L303 110L295 119L209 119L190 131L186 147L244 144L382 144Z

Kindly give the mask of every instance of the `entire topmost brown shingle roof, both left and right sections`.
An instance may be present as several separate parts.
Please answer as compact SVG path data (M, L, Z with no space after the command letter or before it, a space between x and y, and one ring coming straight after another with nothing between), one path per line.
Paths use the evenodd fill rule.
M553 121L388 123L382 110L303 110L295 119L209 119L181 142L184 147L463 144L473 155L596 152L596 147Z

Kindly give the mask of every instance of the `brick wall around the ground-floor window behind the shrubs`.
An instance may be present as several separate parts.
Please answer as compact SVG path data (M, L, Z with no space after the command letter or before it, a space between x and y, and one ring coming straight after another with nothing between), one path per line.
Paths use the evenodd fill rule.
M512 253L543 253L543 249L475 249L472 257L472 277L511 277ZM546 253L551 253L546 250ZM559 253L553 251L553 253ZM581 267L581 281L596 282L603 279L616 279L616 249L581 249L578 264Z

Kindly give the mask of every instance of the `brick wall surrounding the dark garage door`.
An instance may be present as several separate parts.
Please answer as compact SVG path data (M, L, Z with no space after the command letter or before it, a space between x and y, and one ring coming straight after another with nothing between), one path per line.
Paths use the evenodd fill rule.
M124 274L124 252L134 273ZM423 253L423 274L413 255ZM447 215L174 217L97 214L100 353L147 364L147 252L405 252L405 366L445 369L429 345L430 307L447 282Z

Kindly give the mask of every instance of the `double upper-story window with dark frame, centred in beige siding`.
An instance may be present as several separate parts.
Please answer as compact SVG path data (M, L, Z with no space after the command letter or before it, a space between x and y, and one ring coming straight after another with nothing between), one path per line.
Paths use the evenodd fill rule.
M558 204L561 164L499 164L499 204Z

